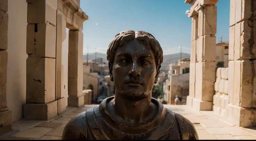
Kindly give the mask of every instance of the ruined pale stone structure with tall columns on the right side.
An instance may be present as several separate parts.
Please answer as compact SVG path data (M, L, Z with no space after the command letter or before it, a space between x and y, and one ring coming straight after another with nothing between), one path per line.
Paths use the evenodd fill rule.
M212 110L214 83L224 85L224 118L237 126L256 126L255 0L230 1L229 63L227 76L216 78L216 20L218 0L186 0L192 19L190 87L187 105L196 110ZM224 70L223 70L224 71ZM222 81L222 82L221 82ZM226 88L227 87L227 88ZM218 89L219 91L219 89ZM214 99L213 99L214 98ZM229 100L228 100L229 99ZM217 100L217 101L216 101ZM215 110L215 109L214 109Z

